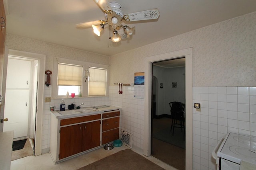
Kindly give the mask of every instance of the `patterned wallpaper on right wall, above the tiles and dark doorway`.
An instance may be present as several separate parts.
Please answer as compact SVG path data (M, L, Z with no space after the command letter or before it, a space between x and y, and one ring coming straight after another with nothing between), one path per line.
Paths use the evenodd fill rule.
M256 12L111 56L110 86L132 82L145 57L190 47L193 86L256 86Z

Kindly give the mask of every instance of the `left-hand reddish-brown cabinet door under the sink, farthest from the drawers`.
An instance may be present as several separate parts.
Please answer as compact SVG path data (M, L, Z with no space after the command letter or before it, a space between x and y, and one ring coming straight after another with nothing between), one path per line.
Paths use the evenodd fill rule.
M59 159L79 152L82 152L82 125L61 127Z

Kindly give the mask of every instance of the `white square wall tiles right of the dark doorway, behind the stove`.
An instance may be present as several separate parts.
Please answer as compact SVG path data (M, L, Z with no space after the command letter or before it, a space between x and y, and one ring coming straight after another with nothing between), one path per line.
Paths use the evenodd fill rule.
M256 136L256 87L194 86L193 169L216 170L212 150L229 132Z

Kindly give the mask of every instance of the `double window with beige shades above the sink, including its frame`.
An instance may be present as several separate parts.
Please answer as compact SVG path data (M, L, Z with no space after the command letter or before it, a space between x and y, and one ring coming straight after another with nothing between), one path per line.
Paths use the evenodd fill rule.
M75 97L107 96L107 69L103 64L54 58L52 98L67 98L67 92L75 93ZM90 77L85 77L84 70L90 71Z

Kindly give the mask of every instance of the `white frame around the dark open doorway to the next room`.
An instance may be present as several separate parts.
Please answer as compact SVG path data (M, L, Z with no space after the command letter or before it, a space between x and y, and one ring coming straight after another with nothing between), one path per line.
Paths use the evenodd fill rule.
M145 58L145 105L144 105L144 152L151 154L151 96L152 96L152 63L185 57L186 74L186 169L192 167L193 144L193 109L192 109L192 48L155 55Z

